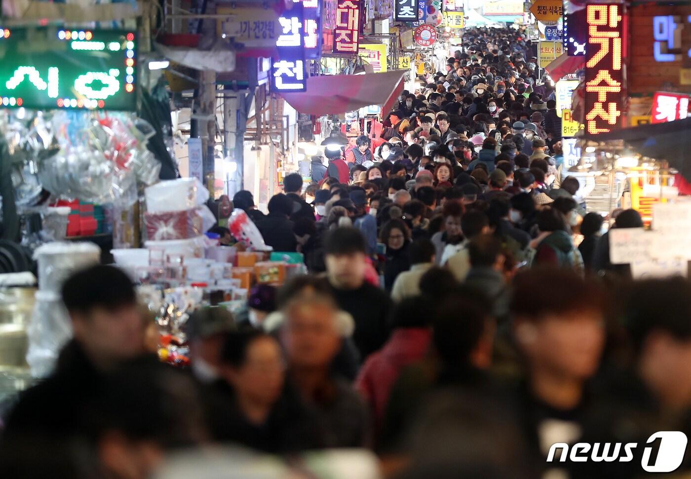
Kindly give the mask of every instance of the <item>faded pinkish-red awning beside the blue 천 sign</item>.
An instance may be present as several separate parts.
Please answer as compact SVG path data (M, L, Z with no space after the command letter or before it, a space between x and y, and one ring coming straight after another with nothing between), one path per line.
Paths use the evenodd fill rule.
M403 91L406 71L310 77L306 92L284 92L281 96L300 113L318 117L370 105L381 105L381 111L388 112Z

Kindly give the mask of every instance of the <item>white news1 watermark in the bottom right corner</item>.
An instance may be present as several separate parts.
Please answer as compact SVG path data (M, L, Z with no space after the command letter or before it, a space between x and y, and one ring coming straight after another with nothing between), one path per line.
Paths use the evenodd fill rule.
M646 472L676 471L683 462L688 439L681 431L658 431L643 445L641 467ZM631 462L637 442L556 442L549 448L547 462ZM557 456L557 451L560 455ZM556 458L556 459L555 459Z

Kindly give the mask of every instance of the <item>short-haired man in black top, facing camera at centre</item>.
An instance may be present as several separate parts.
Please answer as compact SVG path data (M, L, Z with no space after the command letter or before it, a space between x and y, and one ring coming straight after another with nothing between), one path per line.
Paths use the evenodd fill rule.
M352 338L361 360L377 351L390 332L390 299L366 282L366 251L365 239L356 228L337 228L324 239L328 281L339 307L353 317Z

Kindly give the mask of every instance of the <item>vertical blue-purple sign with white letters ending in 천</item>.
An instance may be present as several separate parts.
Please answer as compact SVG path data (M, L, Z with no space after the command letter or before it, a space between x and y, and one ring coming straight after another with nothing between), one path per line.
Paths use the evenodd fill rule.
M278 17L281 35L276 39L278 57L272 61L272 90L303 92L307 90L303 6L294 3Z

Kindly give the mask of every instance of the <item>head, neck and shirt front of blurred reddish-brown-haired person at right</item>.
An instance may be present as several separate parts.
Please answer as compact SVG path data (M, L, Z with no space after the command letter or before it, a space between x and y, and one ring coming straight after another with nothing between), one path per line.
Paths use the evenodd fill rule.
M538 299L536 292L546 278L547 293ZM588 381L598 369L605 346L606 304L598 283L587 282L573 271L536 268L515 276L513 338L525 372L516 391L516 415L531 456L545 473L565 473L564 463L546 462L551 444L573 444L583 436Z

